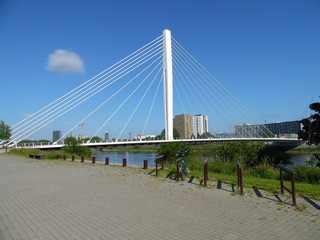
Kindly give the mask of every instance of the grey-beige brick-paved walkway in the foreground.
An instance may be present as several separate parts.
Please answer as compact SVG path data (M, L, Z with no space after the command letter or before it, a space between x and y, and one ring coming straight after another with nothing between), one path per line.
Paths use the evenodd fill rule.
M320 239L304 199L297 211L148 172L0 154L0 239Z

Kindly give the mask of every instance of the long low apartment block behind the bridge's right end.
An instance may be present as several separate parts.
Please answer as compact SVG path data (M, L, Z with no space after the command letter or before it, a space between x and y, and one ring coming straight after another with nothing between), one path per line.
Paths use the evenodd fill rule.
M259 137L279 137L298 138L301 131L300 121L288 121L267 124L244 124L235 126L235 137L259 138Z

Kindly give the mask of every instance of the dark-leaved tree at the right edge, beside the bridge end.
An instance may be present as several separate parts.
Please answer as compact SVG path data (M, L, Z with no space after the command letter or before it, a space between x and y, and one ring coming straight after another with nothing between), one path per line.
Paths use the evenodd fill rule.
M301 120L302 130L299 133L299 138L308 141L309 145L320 144L320 102L315 102L309 105L313 111L310 117Z

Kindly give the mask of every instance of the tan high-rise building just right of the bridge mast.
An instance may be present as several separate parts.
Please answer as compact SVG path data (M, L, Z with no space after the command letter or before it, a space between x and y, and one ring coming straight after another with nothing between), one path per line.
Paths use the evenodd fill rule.
M181 138L191 138L193 132L193 116L188 114L176 115L173 119L173 128L179 131Z

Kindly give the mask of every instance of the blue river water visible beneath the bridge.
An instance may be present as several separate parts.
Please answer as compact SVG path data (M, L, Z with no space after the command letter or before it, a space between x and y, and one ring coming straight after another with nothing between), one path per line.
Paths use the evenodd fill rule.
M96 157L96 161L104 162L105 158L109 158L110 164L117 163L122 164L123 158L127 159L128 165L138 165L143 166L143 160L148 160L148 165L155 166L154 160L157 158L156 153L133 153L133 152L105 152L105 151L95 151L92 154ZM292 165L306 165L306 162L311 158L308 154L290 154L290 160Z

